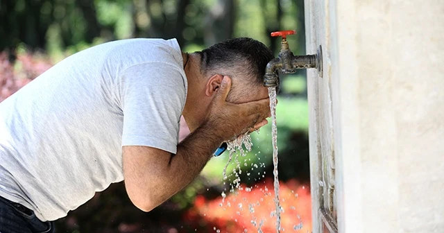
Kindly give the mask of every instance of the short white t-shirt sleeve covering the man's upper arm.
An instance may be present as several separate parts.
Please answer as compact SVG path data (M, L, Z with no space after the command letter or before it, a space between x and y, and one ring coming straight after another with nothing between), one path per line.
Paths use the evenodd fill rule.
M122 146L150 146L176 154L185 79L162 62L137 64L122 72Z

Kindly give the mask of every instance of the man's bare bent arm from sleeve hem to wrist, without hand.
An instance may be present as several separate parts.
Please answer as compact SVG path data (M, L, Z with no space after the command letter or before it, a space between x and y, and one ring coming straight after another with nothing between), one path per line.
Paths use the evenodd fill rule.
M173 155L148 146L123 146L123 172L131 201L151 211L186 187L222 141L206 126L196 129Z

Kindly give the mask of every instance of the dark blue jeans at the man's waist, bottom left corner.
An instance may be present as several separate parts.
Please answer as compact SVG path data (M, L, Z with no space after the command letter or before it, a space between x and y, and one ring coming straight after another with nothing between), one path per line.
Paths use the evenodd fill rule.
M0 196L0 233L53 232L53 222L42 222L31 209Z

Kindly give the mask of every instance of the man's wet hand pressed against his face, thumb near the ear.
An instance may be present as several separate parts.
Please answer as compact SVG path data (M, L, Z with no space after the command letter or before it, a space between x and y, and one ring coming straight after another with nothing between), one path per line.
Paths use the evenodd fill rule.
M245 132L257 130L266 125L270 116L270 101L264 98L260 101L234 104L226 101L231 89L231 78L224 76L221 87L210 104L207 124L214 128L214 133L223 141L237 138Z

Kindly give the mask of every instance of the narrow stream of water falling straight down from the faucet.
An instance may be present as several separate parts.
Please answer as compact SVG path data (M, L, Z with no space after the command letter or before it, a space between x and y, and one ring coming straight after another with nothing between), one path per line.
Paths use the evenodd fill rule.
M278 178L278 127L276 124L276 87L268 87L268 96L270 97L271 110L271 135L273 137L273 175L275 187L275 216L276 216L276 231L280 232L280 205L279 205L279 178Z

